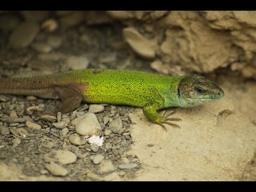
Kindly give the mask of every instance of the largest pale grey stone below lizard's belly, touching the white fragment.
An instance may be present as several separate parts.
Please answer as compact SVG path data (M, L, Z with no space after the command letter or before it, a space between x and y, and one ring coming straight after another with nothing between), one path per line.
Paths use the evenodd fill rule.
M80 135L101 135L101 126L95 114L87 113L76 121L76 132Z

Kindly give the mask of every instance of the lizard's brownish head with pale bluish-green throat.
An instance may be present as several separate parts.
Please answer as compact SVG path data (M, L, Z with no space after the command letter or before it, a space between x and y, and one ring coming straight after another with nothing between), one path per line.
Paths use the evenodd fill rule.
M181 79L178 96L182 107L194 107L219 100L224 96L224 92L211 79L190 74Z

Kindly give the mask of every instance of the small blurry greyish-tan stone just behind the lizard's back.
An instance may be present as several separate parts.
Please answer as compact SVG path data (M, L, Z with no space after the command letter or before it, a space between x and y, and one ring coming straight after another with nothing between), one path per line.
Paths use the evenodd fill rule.
M67 59L66 65L69 69L78 70L86 69L90 61L85 56L70 56Z

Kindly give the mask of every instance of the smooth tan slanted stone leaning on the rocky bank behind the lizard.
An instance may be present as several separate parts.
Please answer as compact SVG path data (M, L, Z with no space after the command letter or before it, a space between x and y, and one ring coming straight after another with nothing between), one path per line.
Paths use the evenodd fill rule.
M147 59L155 58L157 47L156 38L147 39L132 27L124 28L123 35L125 41L132 47L133 51Z

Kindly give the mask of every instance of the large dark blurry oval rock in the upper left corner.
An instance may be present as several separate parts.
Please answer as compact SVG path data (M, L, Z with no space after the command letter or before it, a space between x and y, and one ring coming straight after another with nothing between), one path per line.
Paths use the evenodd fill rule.
M10 46L13 48L23 48L30 45L39 31L39 26L36 22L25 21L19 24L12 31L9 38Z

